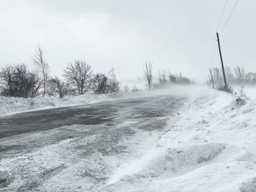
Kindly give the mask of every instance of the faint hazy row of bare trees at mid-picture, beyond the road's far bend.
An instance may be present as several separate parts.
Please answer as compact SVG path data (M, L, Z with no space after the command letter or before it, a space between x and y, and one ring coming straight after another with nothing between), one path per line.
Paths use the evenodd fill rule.
M193 80L190 80L188 77L182 76L182 74L172 74L166 71L158 71L158 83L153 83L153 64L151 62L146 62L144 65L144 77L146 79L147 85L149 89L153 87L165 87L170 84L192 84L194 83Z

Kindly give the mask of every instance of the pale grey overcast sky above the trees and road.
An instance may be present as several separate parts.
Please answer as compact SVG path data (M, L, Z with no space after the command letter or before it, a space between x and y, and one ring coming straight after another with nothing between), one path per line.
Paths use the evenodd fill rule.
M236 0L227 1L223 23ZM118 79L154 69L203 81L219 66L217 24L225 0L0 0L0 66L32 66L40 45L53 75L81 59ZM241 0L221 36L225 64L256 72L256 1ZM211 62L211 47L214 57Z

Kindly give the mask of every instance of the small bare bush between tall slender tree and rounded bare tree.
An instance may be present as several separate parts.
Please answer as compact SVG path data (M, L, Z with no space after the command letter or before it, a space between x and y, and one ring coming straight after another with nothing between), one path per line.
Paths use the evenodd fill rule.
M69 93L67 82L61 81L59 77L53 77L49 80L50 93L58 93L59 98L64 98Z

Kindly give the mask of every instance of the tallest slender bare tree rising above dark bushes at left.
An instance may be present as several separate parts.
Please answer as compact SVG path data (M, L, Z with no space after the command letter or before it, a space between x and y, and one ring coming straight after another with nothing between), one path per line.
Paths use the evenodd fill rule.
M45 97L45 93L47 90L47 83L48 83L49 65L45 61L45 57L44 57L42 48L40 46L37 47L37 53L34 56L34 66L36 66L36 68L39 71L39 74L42 77L42 88L43 88L42 96Z

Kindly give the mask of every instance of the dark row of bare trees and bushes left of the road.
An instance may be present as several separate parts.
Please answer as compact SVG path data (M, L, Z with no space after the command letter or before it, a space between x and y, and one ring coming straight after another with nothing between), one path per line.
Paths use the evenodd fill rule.
M94 73L86 61L76 60L64 70L63 77L50 77L50 67L42 48L34 56L34 70L26 64L10 64L0 69L0 94L13 97L83 95L86 92L116 93L120 85L114 70L108 74Z

